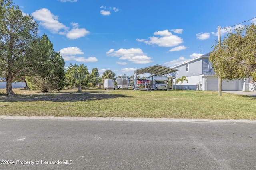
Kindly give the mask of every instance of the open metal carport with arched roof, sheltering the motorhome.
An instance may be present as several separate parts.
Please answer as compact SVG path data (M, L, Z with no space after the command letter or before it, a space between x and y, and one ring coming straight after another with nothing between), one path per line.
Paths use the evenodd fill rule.
M146 68L140 68L134 71L133 73L133 88L134 90L137 90L137 75L144 74L144 73L149 73L149 74L154 74L158 76L167 76L167 77L172 77L171 73L177 72L178 75L178 69L175 68L170 68L166 66L161 66L161 65L154 65L154 66L149 66ZM169 84L169 83L168 83Z

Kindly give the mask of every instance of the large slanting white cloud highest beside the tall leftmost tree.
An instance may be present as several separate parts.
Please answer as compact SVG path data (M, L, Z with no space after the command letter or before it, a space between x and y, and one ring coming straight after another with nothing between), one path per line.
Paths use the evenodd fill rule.
M46 8L36 10L31 16L33 16L35 20L40 21L39 25L50 30L52 33L58 33L61 29L68 30L68 27L58 21L58 16L54 16Z

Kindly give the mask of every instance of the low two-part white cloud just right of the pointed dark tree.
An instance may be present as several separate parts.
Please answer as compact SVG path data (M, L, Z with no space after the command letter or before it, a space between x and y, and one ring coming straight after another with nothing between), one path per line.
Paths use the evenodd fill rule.
M70 60L74 60L74 61L78 61L78 62L96 62L96 61L98 61L98 59L96 57L88 57L87 59L85 57L76 57L75 55L84 54L84 52L82 52L82 50L77 47L63 48L59 52L65 61L70 61Z

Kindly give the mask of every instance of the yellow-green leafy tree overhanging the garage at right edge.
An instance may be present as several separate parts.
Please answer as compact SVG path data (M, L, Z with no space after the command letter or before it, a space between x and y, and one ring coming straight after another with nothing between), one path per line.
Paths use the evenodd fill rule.
M221 44L216 40L209 60L217 76L234 80L252 76L256 79L256 25L228 32Z

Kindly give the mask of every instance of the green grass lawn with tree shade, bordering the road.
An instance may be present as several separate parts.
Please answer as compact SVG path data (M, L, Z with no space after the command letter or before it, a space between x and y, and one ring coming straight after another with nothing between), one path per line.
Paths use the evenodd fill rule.
M256 97L213 91L0 90L0 115L256 119Z

